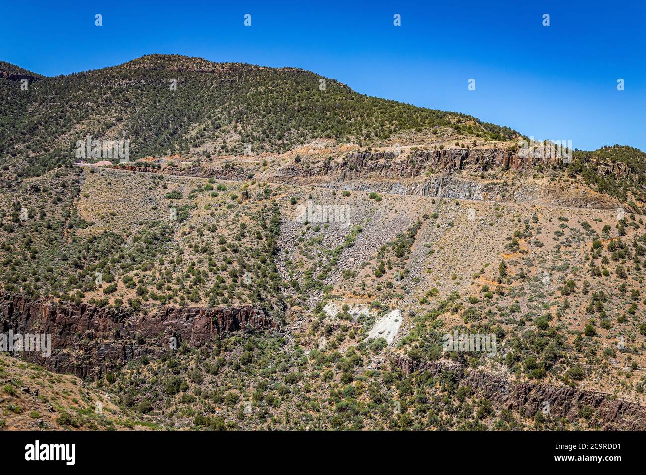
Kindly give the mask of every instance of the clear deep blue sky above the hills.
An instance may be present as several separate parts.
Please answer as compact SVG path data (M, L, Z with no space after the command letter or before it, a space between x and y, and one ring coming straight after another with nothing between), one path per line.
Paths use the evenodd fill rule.
M0 59L49 76L149 53L295 66L537 139L646 151L645 30L644 0L3 0Z

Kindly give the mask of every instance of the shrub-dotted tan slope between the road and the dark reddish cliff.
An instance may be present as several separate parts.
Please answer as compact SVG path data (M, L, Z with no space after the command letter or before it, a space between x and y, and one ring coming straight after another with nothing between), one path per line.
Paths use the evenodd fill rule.
M23 186L6 195L5 290L134 310L249 303L280 318L270 185L59 170Z

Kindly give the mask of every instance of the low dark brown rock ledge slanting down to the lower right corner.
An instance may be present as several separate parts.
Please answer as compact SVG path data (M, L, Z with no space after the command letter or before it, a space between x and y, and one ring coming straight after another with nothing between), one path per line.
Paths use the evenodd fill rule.
M593 421L604 430L646 430L646 408L610 394L545 383L514 383L504 375L466 368L453 361L426 363L404 356L391 359L391 366L406 374L418 370L437 377L452 371L461 385L470 386L497 408L510 409L527 417L548 409L550 417L579 418L581 408L593 410Z

